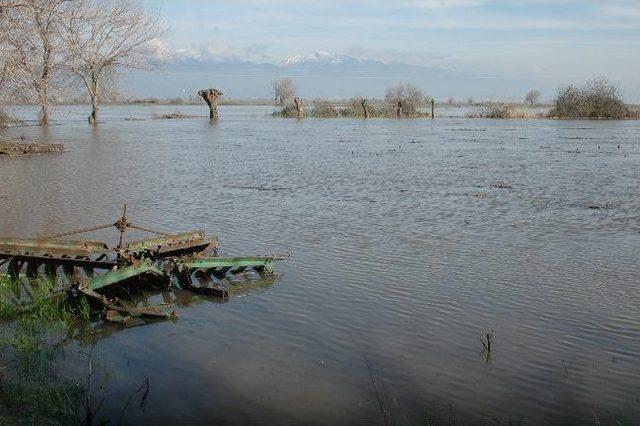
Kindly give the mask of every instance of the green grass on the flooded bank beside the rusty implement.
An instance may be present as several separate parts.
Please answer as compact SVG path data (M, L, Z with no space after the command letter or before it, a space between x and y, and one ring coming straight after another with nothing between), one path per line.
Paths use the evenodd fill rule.
M55 364L67 330L89 313L84 298L68 300L53 280L0 275L0 425L81 422L84 389Z

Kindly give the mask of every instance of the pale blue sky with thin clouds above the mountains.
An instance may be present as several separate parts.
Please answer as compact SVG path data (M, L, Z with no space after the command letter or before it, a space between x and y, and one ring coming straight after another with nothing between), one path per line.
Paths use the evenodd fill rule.
M604 76L640 100L640 0L145 0L166 51L282 63L323 51L559 86Z

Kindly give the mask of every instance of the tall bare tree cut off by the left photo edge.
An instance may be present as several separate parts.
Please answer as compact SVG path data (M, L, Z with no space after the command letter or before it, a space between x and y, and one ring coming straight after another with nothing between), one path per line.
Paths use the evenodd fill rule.
M22 0L0 9L4 77L21 100L40 106L49 124L55 95L64 84L60 25L65 0Z

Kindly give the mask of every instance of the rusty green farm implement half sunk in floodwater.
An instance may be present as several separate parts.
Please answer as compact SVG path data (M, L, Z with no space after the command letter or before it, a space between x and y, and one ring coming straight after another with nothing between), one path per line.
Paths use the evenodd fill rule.
M115 227L118 245L88 240L61 240ZM125 244L129 229L156 236ZM249 273L273 274L273 264L286 256L225 257L218 255L218 238L203 231L170 234L135 225L123 215L116 222L37 239L0 238L0 272L14 279L48 277L66 291L85 294L102 305L106 318L126 322L131 317L172 317L156 308L129 308L116 294L147 288L179 288L198 294L229 297L225 282Z

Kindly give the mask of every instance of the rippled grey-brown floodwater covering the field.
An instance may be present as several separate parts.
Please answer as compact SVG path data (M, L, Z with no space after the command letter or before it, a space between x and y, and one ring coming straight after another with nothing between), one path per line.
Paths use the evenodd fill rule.
M100 340L98 418L148 378L130 424L640 423L639 122L150 119L176 109L206 113L93 128L61 107L0 134L66 146L0 158L3 235L126 202L224 254L291 253L272 283Z

